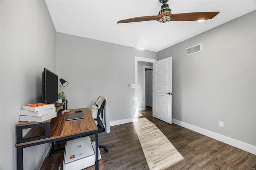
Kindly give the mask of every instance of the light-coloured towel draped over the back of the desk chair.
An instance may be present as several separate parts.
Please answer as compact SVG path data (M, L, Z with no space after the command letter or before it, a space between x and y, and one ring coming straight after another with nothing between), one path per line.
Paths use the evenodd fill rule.
M107 98L105 96L100 96L98 97L97 101L95 102L95 104L98 106L98 109L100 108L102 102L104 101L104 99L106 100L105 103L105 108L103 109L103 125L106 128L106 132L109 133L110 132L110 122L109 122L109 112L108 112L108 101Z

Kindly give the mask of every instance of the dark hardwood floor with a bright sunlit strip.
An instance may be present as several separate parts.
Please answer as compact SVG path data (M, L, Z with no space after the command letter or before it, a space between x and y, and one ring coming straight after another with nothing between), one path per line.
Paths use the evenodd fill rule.
M256 155L178 125L152 117L150 107L138 121L99 134L106 170L255 170Z

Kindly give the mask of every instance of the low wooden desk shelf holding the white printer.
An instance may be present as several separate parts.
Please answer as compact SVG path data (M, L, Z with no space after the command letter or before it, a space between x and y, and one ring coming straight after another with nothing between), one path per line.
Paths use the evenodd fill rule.
M63 170L63 158L63 152L60 152L58 154L52 154L51 156L46 156L40 170L58 170L59 167L61 167L61 169ZM88 168L85 168L83 170L95 170L95 167L96 164L89 166ZM101 159L99 160L99 170L104 170L104 160L102 158L102 155Z

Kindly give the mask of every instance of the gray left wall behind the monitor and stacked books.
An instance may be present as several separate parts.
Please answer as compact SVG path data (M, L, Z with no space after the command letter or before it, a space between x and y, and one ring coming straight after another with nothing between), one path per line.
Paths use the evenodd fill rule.
M1 0L1 170L16 167L22 104L42 101L42 71L56 72L56 30L44 1ZM24 149L24 169L38 169L49 144Z

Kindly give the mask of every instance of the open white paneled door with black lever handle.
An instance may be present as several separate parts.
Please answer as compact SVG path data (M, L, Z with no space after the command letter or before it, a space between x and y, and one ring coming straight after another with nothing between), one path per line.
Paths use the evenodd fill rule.
M172 57L154 62L154 117L172 124Z

